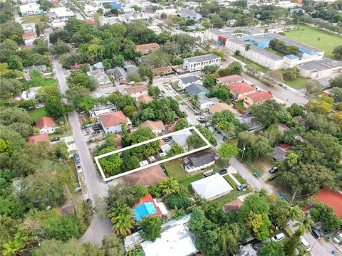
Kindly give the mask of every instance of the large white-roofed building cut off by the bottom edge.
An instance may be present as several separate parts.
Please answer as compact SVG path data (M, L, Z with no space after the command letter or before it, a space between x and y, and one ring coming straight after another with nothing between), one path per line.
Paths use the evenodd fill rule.
M140 245L145 256L187 256L197 252L192 233L187 228L190 215L180 220L171 220L162 225L164 230L155 242L145 241Z

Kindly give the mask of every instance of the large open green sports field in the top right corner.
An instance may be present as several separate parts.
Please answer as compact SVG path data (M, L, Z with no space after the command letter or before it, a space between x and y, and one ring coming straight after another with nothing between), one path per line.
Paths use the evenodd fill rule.
M297 27L299 27L299 31L288 31L285 33L286 36L308 46L324 50L324 57L333 57L333 48L342 44L342 36L307 25L298 25Z

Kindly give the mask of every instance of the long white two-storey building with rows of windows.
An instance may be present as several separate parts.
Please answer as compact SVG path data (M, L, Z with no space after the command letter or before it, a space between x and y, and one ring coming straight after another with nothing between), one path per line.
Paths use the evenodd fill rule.
M199 55L191 58L185 58L183 60L183 69L194 72L202 70L207 65L221 65L221 58L213 53Z

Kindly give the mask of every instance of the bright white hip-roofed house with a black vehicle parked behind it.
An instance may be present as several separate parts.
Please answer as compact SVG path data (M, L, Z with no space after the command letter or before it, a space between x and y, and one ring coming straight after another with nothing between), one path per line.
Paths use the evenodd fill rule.
M219 174L194 181L191 186L201 198L207 200L219 198L233 190L232 186Z

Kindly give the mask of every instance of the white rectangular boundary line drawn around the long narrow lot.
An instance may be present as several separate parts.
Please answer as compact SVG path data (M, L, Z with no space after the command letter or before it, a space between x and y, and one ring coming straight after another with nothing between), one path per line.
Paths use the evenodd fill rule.
M190 130L194 130L194 131L199 135L199 137L201 137L201 139L204 140L204 142L205 142L206 145L205 145L205 146L201 146L201 147L198 148L198 149L193 149L193 150L187 151L187 152L185 152L185 153L178 154L178 155L176 155L176 156L171 156L171 157L168 158L168 159L162 159L162 160L160 160L160 161L156 161L155 163L147 164L146 166L141 166L141 167L139 167L139 168L136 168L136 169L133 169L133 170L130 170L130 171L125 171L125 172L122 173L122 174L117 174L117 175L115 175L115 176L110 176L110 177L108 177L108 178L105 177L105 174L103 173L103 169L102 169L102 167L101 167L101 165L100 165L98 159L101 159L101 158L103 158L103 157L105 157L105 156L110 156L110 155L112 155L112 154L118 154L118 153L120 153L120 152L122 152L122 151L125 151L125 150L128 150L128 149L134 149L134 148L137 147L137 146L145 145L145 144L150 143L150 142L159 141L160 139L163 139L163 138L166 138L166 137L170 137L170 136L172 136L172 135L174 135L174 134L180 134L180 133L182 133L182 132L190 131ZM177 132L172 132L172 133L170 133L170 134L162 135L162 136L157 137L157 138L154 138L154 139L149 139L149 140L147 140L146 142L140 142L140 143L138 143L138 144L134 144L134 145L131 145L131 146L126 146L126 147L124 147L123 149L118 149L118 150L115 150L115 151L111 151L111 152L102 154L102 155L100 155L100 156L95 156L94 159L95 159L96 165L98 166L98 169L100 170L100 174L101 174L101 176L102 176L102 178L103 178L103 181L111 181L111 180L113 180L114 178L119 178L119 177L125 176L125 175L127 175L127 174L133 174L133 173L135 173L136 171L140 171L140 170L142 170L142 169L146 169L146 168L148 168L148 167L155 166L155 165L157 165L157 164L162 164L162 163L165 163L165 162L170 161L170 160L173 160L173 159L177 159L177 158L182 157L182 156L187 156L188 154L192 154L192 153L195 153L195 152L197 152L197 151L201 151L201 150L204 150L204 149L208 149L208 148L211 147L211 146L212 146L212 144L210 144L210 142L208 142L208 140L199 132L199 130L198 130L195 126L192 126L192 127L187 127L187 128L185 128L185 129L182 129L182 130L177 131Z

